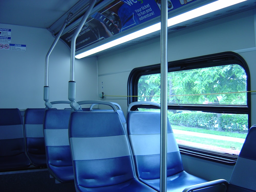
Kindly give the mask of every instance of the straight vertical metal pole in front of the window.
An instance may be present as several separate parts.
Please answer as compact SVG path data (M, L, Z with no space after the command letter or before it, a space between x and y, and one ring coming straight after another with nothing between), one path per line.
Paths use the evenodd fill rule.
M160 192L166 192L167 176L167 0L161 1L161 146Z

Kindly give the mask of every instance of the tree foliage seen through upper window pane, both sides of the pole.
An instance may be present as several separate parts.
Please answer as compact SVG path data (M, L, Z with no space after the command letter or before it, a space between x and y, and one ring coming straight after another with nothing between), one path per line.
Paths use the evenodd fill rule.
M246 91L246 80L246 73L239 65L169 72L168 94L172 96L168 97L168 102L183 104L246 104L246 93L227 93ZM160 82L160 74L142 76L138 82L138 95L149 95L151 97L139 97L138 100L160 102L160 97L152 97L160 95ZM192 96L192 94L196 95Z

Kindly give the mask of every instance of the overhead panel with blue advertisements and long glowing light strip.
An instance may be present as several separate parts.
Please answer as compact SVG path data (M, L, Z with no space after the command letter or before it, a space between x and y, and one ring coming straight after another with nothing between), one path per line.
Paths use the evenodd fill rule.
M210 3L215 3L214 0L179 0L168 1L168 33L172 33L177 30L198 25L200 23L208 22L209 20L226 16L244 9L252 8L255 6L253 0L247 0L242 2L239 0L232 2L232 6L225 5L225 1L219 0L220 5L216 5L215 9L211 9L208 12L200 14L200 10L195 10ZM237 4L235 4L237 3ZM234 5L233 5L234 4ZM227 6L227 7L225 7ZM210 5L214 7L214 5ZM155 25L160 21L160 8L161 3L155 0L150 1L102 1L97 2L97 5L93 8L92 13L83 25L81 32L76 42L76 57L82 58L86 56L99 56L108 52L113 52L116 49L131 46L140 41L149 40L160 36L157 26L152 27L151 31L147 27ZM206 8L202 8L206 9ZM195 10L197 14L191 15L189 12ZM124 14L125 13L125 14ZM188 14L189 13L189 14ZM199 13L199 14L198 14ZM63 20L63 19L62 19ZM71 47L71 39L74 34L74 30L78 26L81 18L71 22L64 30L61 39ZM114 27L115 26L115 27ZM133 34L147 28L143 32L143 35L138 35L128 40L121 40L120 38L127 38L126 36ZM111 41L118 39L118 44L109 46ZM120 44L121 43L121 44ZM107 44L106 48L98 47ZM105 47L105 46L104 46ZM97 51L95 52L95 48ZM84 51L93 49L92 52L86 54L86 56L78 56Z

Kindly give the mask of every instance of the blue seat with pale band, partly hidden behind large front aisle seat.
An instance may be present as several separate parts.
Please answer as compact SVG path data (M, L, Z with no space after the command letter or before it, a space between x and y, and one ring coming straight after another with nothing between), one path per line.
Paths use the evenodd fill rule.
M44 117L47 167L59 182L74 179L68 140L70 112L67 109L48 109Z

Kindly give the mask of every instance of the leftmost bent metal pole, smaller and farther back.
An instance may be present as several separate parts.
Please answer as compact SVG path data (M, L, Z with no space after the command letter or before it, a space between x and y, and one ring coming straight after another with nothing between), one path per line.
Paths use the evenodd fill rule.
M63 32L63 30L65 29L65 27L67 26L68 22L68 18L70 18L72 14L69 14L67 19L65 20L65 22L63 23L57 37L55 38L54 42L52 43L49 51L46 54L45 57L45 86L44 86L44 101L46 102L45 105L48 106L48 108L51 108L50 105L47 105L48 101L49 101L49 86L48 86L48 71L49 71L49 57L51 55L52 50L55 48L58 40L60 39L60 36Z

